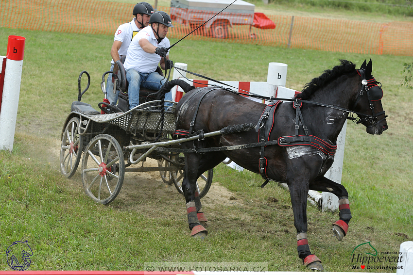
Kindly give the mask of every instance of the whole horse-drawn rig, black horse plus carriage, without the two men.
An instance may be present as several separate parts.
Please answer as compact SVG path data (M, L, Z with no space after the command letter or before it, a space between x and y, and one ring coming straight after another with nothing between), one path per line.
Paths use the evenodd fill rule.
M126 91L125 72L118 63L120 83L115 87L122 92ZM184 194L190 235L204 239L207 219L200 198L210 187L213 167L228 157L260 174L265 179L261 187L269 180L287 183L298 257L307 268L322 271L321 260L311 253L307 238L307 194L314 190L339 198L339 220L332 224L332 230L337 240L343 241L352 217L349 194L344 186L324 177L334 161L337 137L346 119L364 125L372 135L388 129L381 104L383 91L372 75L371 60L365 60L360 69L347 60L340 63L311 80L294 98L255 95L269 99L267 105L242 97L236 90L195 88L172 80L161 89L160 100L139 102L138 107L120 112L114 112L117 107L113 105L107 112L101 102L99 107L106 114L99 114L80 102L88 85L82 93L79 88L78 101L72 103L62 131L61 171L73 176L83 152L81 172L86 194L106 204L119 194L124 172L156 168L165 182L173 182ZM174 85L181 86L186 94L179 103L171 101L174 112L165 111L162 94ZM144 93L139 95L146 101ZM175 134L178 139L172 139ZM143 167L147 157L157 160L158 167ZM140 162L142 167L129 167ZM200 184L202 180L204 184Z

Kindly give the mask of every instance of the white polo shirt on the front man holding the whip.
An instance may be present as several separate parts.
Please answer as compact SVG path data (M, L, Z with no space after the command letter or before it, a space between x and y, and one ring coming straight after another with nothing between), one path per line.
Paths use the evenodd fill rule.
M139 45L140 39L147 39L155 47L168 48L171 46L169 39L166 37L158 44L151 26L145 27L132 39L123 66L125 67L125 70L134 68L141 73L155 72L161 57L156 53L145 52ZM166 55L169 55L169 51Z

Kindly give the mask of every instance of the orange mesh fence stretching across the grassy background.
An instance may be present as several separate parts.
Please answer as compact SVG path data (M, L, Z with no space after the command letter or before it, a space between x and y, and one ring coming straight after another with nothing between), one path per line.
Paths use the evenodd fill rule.
M50 32L113 35L132 19L134 4L98 0L1 0L0 26ZM212 12L158 7L181 38L214 15ZM271 29L270 23L275 24ZM243 44L413 56L413 23L373 23L300 16L225 13L188 36Z

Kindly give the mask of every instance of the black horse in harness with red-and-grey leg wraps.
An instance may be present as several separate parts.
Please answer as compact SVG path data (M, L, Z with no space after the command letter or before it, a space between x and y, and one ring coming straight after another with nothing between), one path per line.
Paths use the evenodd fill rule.
M348 193L344 186L324 177L334 161L337 137L349 111L358 115L358 120L353 119L362 123L369 134L381 134L388 128L381 105L383 92L371 74L371 60L368 64L364 61L359 70L355 66L341 60L341 65L306 84L292 102L268 106L222 87L183 87L187 93L175 111L176 129L189 129L191 134L200 129L211 132L229 125L257 124L257 129L182 143L183 148L199 150L267 142L239 150L185 153L182 188L191 236L203 239L207 233L196 179L228 157L263 178L287 183L297 229L298 257L308 268L323 270L307 241L308 191L331 192L339 197L340 219L333 224L333 231L341 241L351 219ZM268 145L269 141L277 144Z

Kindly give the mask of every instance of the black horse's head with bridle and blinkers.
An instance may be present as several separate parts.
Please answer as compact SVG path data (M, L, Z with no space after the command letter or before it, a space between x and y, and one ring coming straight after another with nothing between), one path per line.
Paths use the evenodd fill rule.
M387 115L381 105L381 98L383 97L381 83L376 81L372 75L371 59L369 63L364 60L357 72L361 77L361 88L360 92L355 95L352 111L358 112L360 119L357 123L363 124L367 133L380 135L388 129Z

